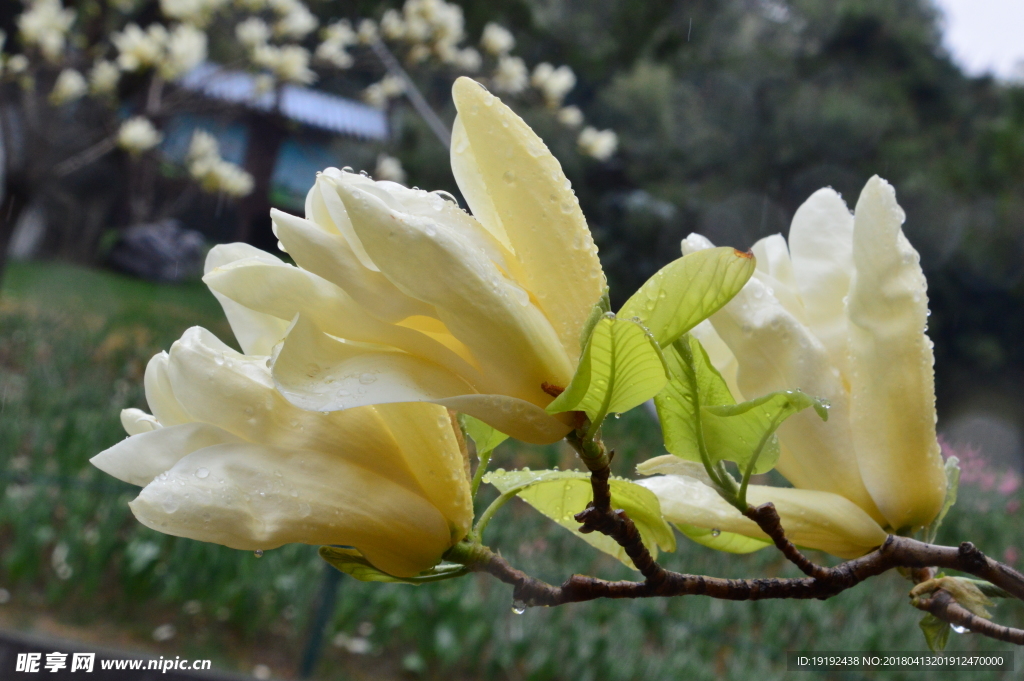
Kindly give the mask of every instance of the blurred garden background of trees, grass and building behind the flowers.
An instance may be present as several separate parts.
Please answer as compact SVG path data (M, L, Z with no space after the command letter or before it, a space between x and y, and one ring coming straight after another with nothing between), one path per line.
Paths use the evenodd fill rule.
M313 547L153 533L87 462L145 408L154 353L195 325L233 342L198 281L210 246L275 250L269 208L301 213L328 166L460 196L450 90L470 75L561 161L617 303L690 231L745 249L821 186L852 206L872 174L892 182L930 285L939 430L965 462L940 541L1020 567L1022 27L1006 0L0 3L0 630L283 679L769 679L785 650L924 649L895 574L821 603L517 615L486 578L361 584ZM663 453L642 410L608 429L621 474ZM496 456L574 465L560 446ZM502 513L493 545L523 569L629 577ZM688 543L666 562L793 572ZM1019 604L995 615L1024 624Z

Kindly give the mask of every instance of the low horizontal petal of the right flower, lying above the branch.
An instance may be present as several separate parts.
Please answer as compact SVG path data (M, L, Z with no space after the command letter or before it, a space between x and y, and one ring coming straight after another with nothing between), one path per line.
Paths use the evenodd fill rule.
M657 496L662 514L670 522L767 539L753 520L695 478L662 475L640 480L638 484ZM746 498L755 506L767 502L775 504L785 536L798 546L825 551L840 558L856 558L886 541L885 530L874 520L839 495L752 484Z

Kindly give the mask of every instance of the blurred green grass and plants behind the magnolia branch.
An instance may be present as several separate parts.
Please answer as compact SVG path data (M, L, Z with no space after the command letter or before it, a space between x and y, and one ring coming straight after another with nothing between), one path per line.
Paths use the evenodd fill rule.
M216 301L198 284L164 287L67 265L11 265L0 293L0 585L13 592L15 604L79 624L115 622L147 635L157 624L173 623L179 634L160 649L164 655L211 656L232 668L251 658L246 648L256 648L297 664L325 569L313 547L256 559L159 535L128 511L135 488L88 464L125 436L120 410L145 407L148 357L194 325L229 340ZM656 428L640 411L607 430L620 474L660 453ZM495 465L574 461L563 446L510 442L499 448ZM989 501L966 497L940 540L970 539L996 556L1020 543L1019 511L1004 512L1008 500L992 504L994 493ZM995 510L979 510L984 503ZM514 564L552 582L573 571L631 576L522 504L503 509L487 539ZM679 551L664 558L674 569L722 577L796 574L771 550L730 556L683 538ZM921 613L907 604L907 590L892 573L824 602L688 597L516 615L510 589L485 576L423 587L345 579L332 631L368 637L372 651L328 646L318 678L767 681L785 676L786 650L925 649ZM1024 625L1018 604L994 612L1000 622ZM973 636L954 636L950 645L1008 647Z

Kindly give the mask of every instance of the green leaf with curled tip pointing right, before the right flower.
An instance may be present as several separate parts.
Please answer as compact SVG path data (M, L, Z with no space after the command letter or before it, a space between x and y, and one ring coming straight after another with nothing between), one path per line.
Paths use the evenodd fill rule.
M740 470L753 466L755 473L770 471L779 456L775 430L808 407L822 421L828 419L825 403L800 390L780 390L739 405L701 407L700 422L712 462L734 461Z

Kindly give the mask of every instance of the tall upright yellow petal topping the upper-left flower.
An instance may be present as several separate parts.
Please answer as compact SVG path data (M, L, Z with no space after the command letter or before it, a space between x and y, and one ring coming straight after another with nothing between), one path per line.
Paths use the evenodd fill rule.
M508 237L518 281L574 364L581 329L606 286L580 202L558 160L511 109L468 78L452 94L465 131L452 145L456 181L477 219Z

